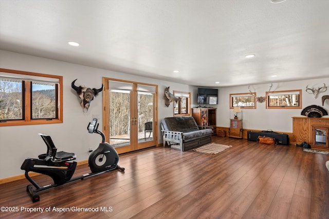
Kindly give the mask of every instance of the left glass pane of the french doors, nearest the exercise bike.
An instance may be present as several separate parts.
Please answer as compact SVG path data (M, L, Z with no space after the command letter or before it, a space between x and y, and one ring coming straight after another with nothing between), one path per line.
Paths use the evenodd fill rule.
M109 91L109 144L113 147L130 145L131 91Z

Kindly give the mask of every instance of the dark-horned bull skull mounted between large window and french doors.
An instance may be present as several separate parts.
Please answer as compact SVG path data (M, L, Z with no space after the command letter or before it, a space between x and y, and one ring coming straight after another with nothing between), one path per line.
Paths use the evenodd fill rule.
M92 102L94 97L97 96L97 94L103 90L103 84L102 84L102 87L99 89L96 89L96 88L91 89L88 87L76 86L75 85L76 81L77 81L77 79L75 79L71 83L71 87L75 91L77 91L78 98L79 98L80 105L82 107L83 112L87 112L88 108L90 106L90 102Z

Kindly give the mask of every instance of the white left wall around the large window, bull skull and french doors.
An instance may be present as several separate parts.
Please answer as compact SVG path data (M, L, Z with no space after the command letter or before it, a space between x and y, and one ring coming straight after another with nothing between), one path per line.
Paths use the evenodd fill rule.
M82 65L59 62L51 59L24 55L0 50L0 68L54 74L63 76L63 123L49 125L24 125L0 127L0 178L23 174L21 165L26 157L38 157L46 152L46 146L38 133L49 134L59 150L74 152L77 161L88 159L89 147L96 148L101 137L87 132L87 125L94 115L98 115L102 125L102 95L99 94L83 113L76 91L70 84L78 78L76 85L99 88L102 77L125 79L129 81L158 85L158 120L173 116L173 104L167 108L163 101L164 90L190 91L189 85L160 81L121 72L107 71ZM102 126L101 126L102 127ZM160 127L158 123L158 127ZM158 128L158 142L162 135Z

